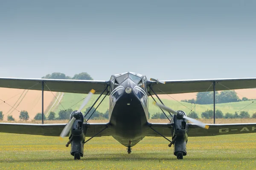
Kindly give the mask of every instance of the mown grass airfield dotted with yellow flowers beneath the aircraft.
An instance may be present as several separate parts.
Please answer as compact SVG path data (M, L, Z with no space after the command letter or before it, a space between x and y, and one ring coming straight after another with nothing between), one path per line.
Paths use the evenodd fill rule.
M187 156L177 160L162 137L145 137L131 154L111 136L84 145L73 160L67 138L0 133L0 169L256 169L256 134L189 137Z

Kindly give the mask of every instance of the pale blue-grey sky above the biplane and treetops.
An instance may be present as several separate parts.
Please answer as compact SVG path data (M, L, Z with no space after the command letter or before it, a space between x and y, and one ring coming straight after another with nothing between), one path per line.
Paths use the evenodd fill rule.
M0 77L256 77L255 9L254 0L0 0Z

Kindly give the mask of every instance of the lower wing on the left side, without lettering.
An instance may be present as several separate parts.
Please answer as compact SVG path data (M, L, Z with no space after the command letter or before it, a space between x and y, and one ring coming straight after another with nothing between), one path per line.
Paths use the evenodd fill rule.
M61 131L67 124L29 124L29 123L0 123L0 132L2 133L19 133L28 135L43 135L43 136L60 136ZM109 123L87 123L84 127L87 128L85 136L93 136ZM69 134L68 134L69 135ZM67 135L67 136L68 136ZM97 136L110 136L110 130L107 128Z

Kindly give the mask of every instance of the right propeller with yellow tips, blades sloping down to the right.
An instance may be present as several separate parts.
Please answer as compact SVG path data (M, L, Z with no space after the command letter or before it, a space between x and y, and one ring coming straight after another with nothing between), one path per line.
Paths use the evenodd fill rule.
M154 102L155 105L159 106L160 108L162 108L163 110L166 110L166 111L169 111L173 114L175 114L176 116L179 116L181 118L184 118L184 119L187 119L188 121L190 122L193 122L195 124L197 124L199 127L203 127L205 129L209 129L209 125L205 125L203 122L200 122L199 120L196 120L196 119L193 119L191 117L187 117L183 114L178 114L179 112L175 111L175 110L172 110L171 108L169 107L166 107L165 105L160 105L158 104L157 102Z

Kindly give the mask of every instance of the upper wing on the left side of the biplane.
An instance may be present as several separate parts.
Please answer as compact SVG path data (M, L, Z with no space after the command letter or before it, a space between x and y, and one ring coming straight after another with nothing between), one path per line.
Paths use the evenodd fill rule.
M100 94L109 83L96 80L0 78L0 88L42 90L42 82L45 83L44 91L80 94L87 94L91 89L96 90L95 94Z

